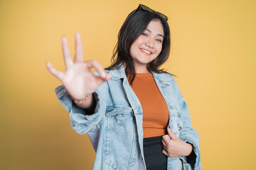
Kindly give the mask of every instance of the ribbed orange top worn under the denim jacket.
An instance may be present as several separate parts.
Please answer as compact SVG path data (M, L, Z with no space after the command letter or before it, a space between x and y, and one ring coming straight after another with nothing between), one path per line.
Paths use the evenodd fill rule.
M137 73L131 87L142 105L144 138L166 135L168 107L153 75Z

